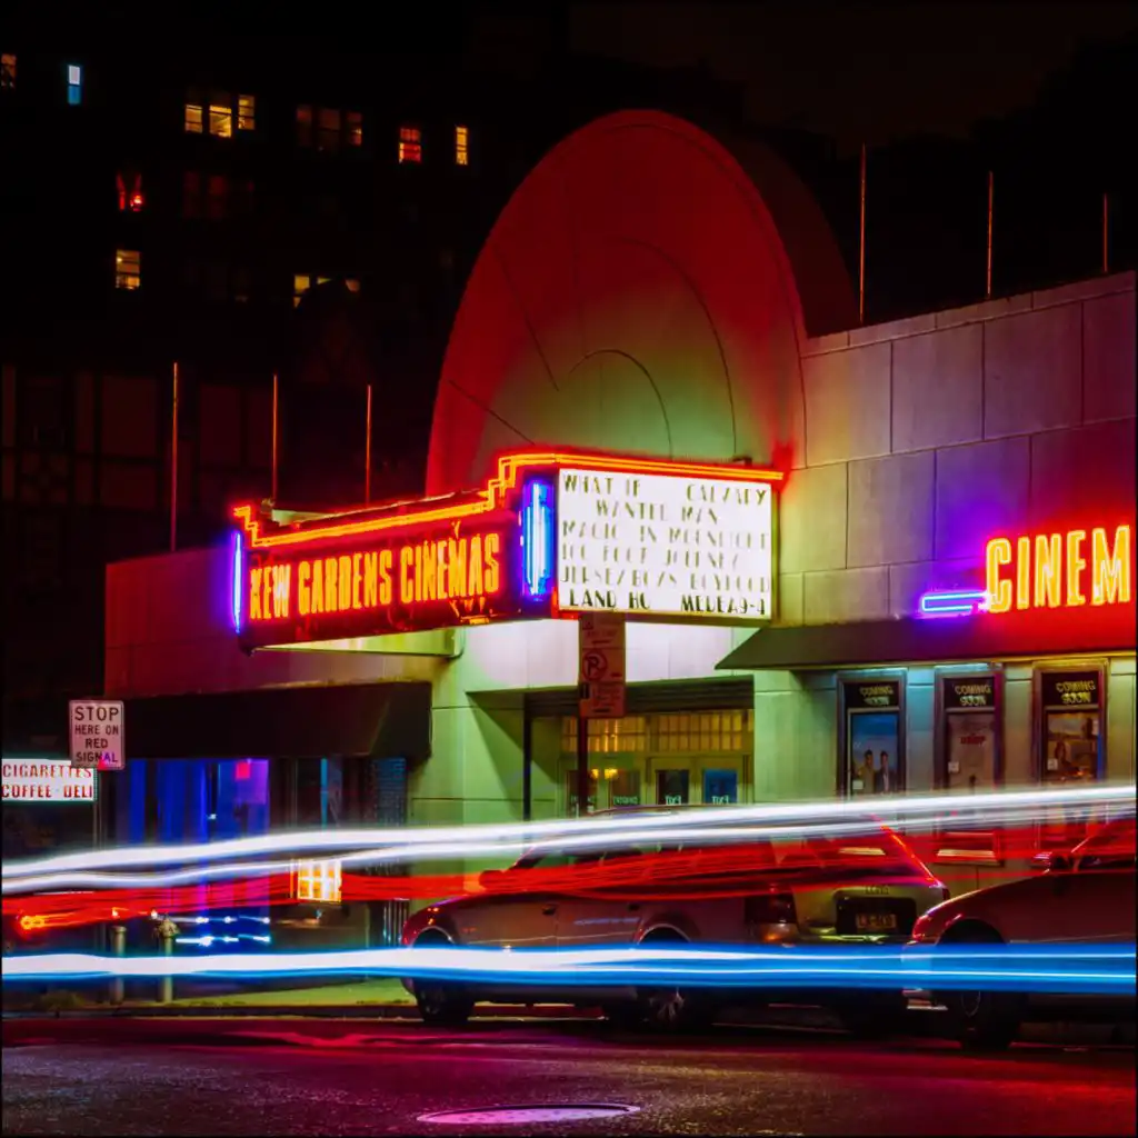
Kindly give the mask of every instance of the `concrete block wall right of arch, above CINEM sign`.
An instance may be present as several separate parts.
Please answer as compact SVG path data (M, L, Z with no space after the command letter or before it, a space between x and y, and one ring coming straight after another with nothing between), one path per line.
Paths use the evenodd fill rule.
M1133 510L1133 273L813 339L802 379L785 624L908 616L996 531Z

